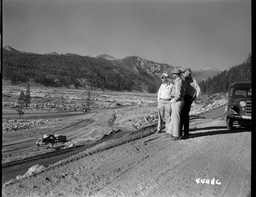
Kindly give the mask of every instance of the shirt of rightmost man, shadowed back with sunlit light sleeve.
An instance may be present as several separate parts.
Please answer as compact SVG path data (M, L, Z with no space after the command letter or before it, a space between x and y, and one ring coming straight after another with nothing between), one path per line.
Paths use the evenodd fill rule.
M201 88L192 77L185 78L185 95L189 95L194 99L201 95Z

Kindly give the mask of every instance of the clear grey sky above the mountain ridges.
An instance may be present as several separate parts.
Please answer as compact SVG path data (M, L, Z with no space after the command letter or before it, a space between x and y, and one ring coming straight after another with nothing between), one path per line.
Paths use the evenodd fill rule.
M174 67L229 69L251 53L251 1L6 0L3 46L139 56Z

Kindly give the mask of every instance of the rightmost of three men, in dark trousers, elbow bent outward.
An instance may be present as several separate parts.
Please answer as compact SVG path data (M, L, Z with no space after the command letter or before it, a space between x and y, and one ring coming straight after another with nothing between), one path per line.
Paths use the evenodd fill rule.
M187 68L183 71L183 77L185 80L185 95L184 106L181 111L180 119L180 135L182 136L182 127L184 125L184 136L187 138L189 135L189 112L191 104L201 95L201 89L197 81L191 77L191 69Z

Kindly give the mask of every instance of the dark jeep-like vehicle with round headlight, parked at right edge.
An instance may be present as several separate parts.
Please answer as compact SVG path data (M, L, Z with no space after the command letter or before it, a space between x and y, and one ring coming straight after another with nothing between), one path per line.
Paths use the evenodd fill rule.
M251 82L236 82L229 87L225 108L227 129L233 128L234 121L241 126L251 124Z

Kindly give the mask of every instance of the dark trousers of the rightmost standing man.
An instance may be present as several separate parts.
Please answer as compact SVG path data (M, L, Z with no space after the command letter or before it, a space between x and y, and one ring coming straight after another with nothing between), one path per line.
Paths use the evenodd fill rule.
M184 96L184 106L180 114L180 136L182 136L183 125L184 125L184 135L189 134L189 112L190 112L191 104L193 103L193 101L190 100L191 98L193 97L189 95Z

